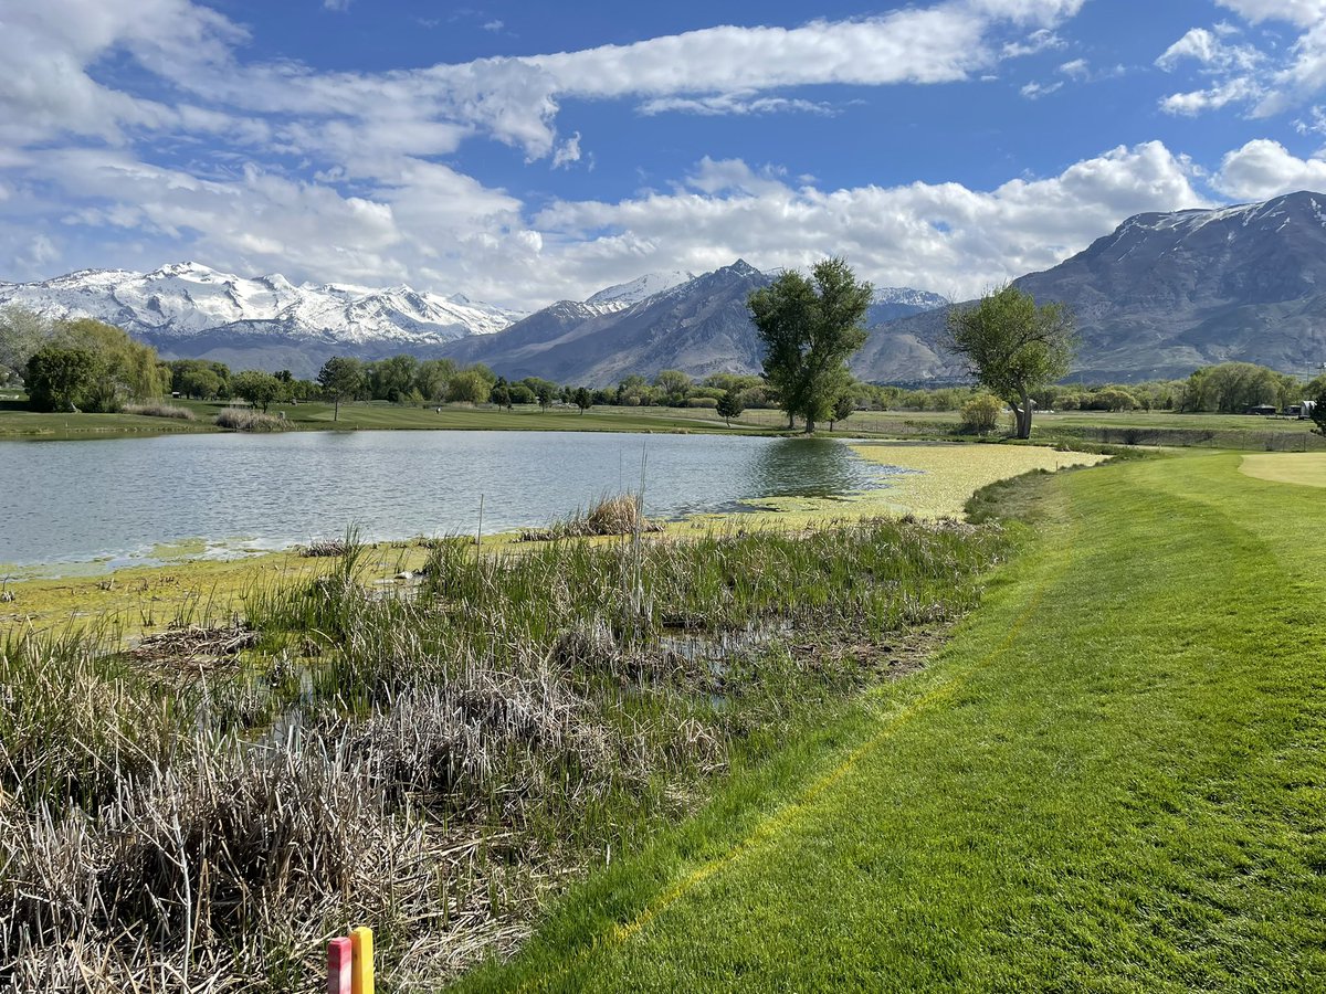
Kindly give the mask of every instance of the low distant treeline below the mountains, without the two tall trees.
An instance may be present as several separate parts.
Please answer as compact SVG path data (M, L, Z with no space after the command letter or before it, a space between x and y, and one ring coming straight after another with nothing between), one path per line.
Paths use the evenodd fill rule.
M375 360L338 357L324 372L330 366L342 376L351 372L342 400L504 408L700 407L733 415L743 408L778 406L776 391L761 376L732 372L693 379L680 370L663 370L652 378L625 376L613 387L587 387L540 376L508 380L481 363L460 366L452 359L412 355ZM163 362L151 346L99 321L50 321L19 307L0 311L0 384L23 383L38 410L118 411L135 400L176 394L196 400L245 400L265 411L273 403L328 399L330 384L325 375L320 379L300 379L289 370L232 371L207 359ZM1200 368L1187 379L1057 384L1037 391L1034 399L1042 411L1240 414L1258 406L1284 410L1322 392L1326 374L1306 382L1265 366L1229 362ZM846 399L850 410L858 411L960 411L981 394L976 387L920 390L853 382Z

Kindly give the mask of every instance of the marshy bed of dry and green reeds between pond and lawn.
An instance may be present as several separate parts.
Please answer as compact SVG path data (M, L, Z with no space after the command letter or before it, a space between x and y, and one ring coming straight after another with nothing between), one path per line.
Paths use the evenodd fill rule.
M1006 545L896 520L680 541L636 518L607 543L440 541L385 594L347 535L243 619L127 651L11 635L0 989L312 991L354 922L385 986L436 989L737 754L887 677Z

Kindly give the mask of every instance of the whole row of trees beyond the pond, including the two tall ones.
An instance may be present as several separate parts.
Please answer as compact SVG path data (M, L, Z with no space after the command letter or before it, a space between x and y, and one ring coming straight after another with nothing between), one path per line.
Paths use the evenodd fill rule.
M244 399L264 411L272 403L328 398L337 417L339 404L355 399L507 408L564 403L582 412L593 406L668 404L709 407L725 419L748 407L780 407L789 425L800 417L808 431L854 410L961 411L964 420L984 424L993 394L1013 410L1024 437L1034 410L1240 412L1260 404L1284 408L1326 392L1326 376L1303 383L1252 363L1205 367L1187 380L1057 383L1075 346L1071 315L1055 304L1037 305L1012 286L948 314L945 345L967 358L976 387L861 383L849 374L847 360L865 342L871 293L841 258L815 265L809 277L784 273L752 293L748 306L765 346L762 376L724 372L695 380L680 370L663 370L652 379L629 375L615 387L589 388L538 376L507 380L483 364L395 355L335 357L316 380L301 380L289 370L232 372L203 359L162 363L151 347L109 325L46 321L11 309L0 313L0 379L24 379L32 404L41 410L114 411L127 400L171 390L198 399Z

